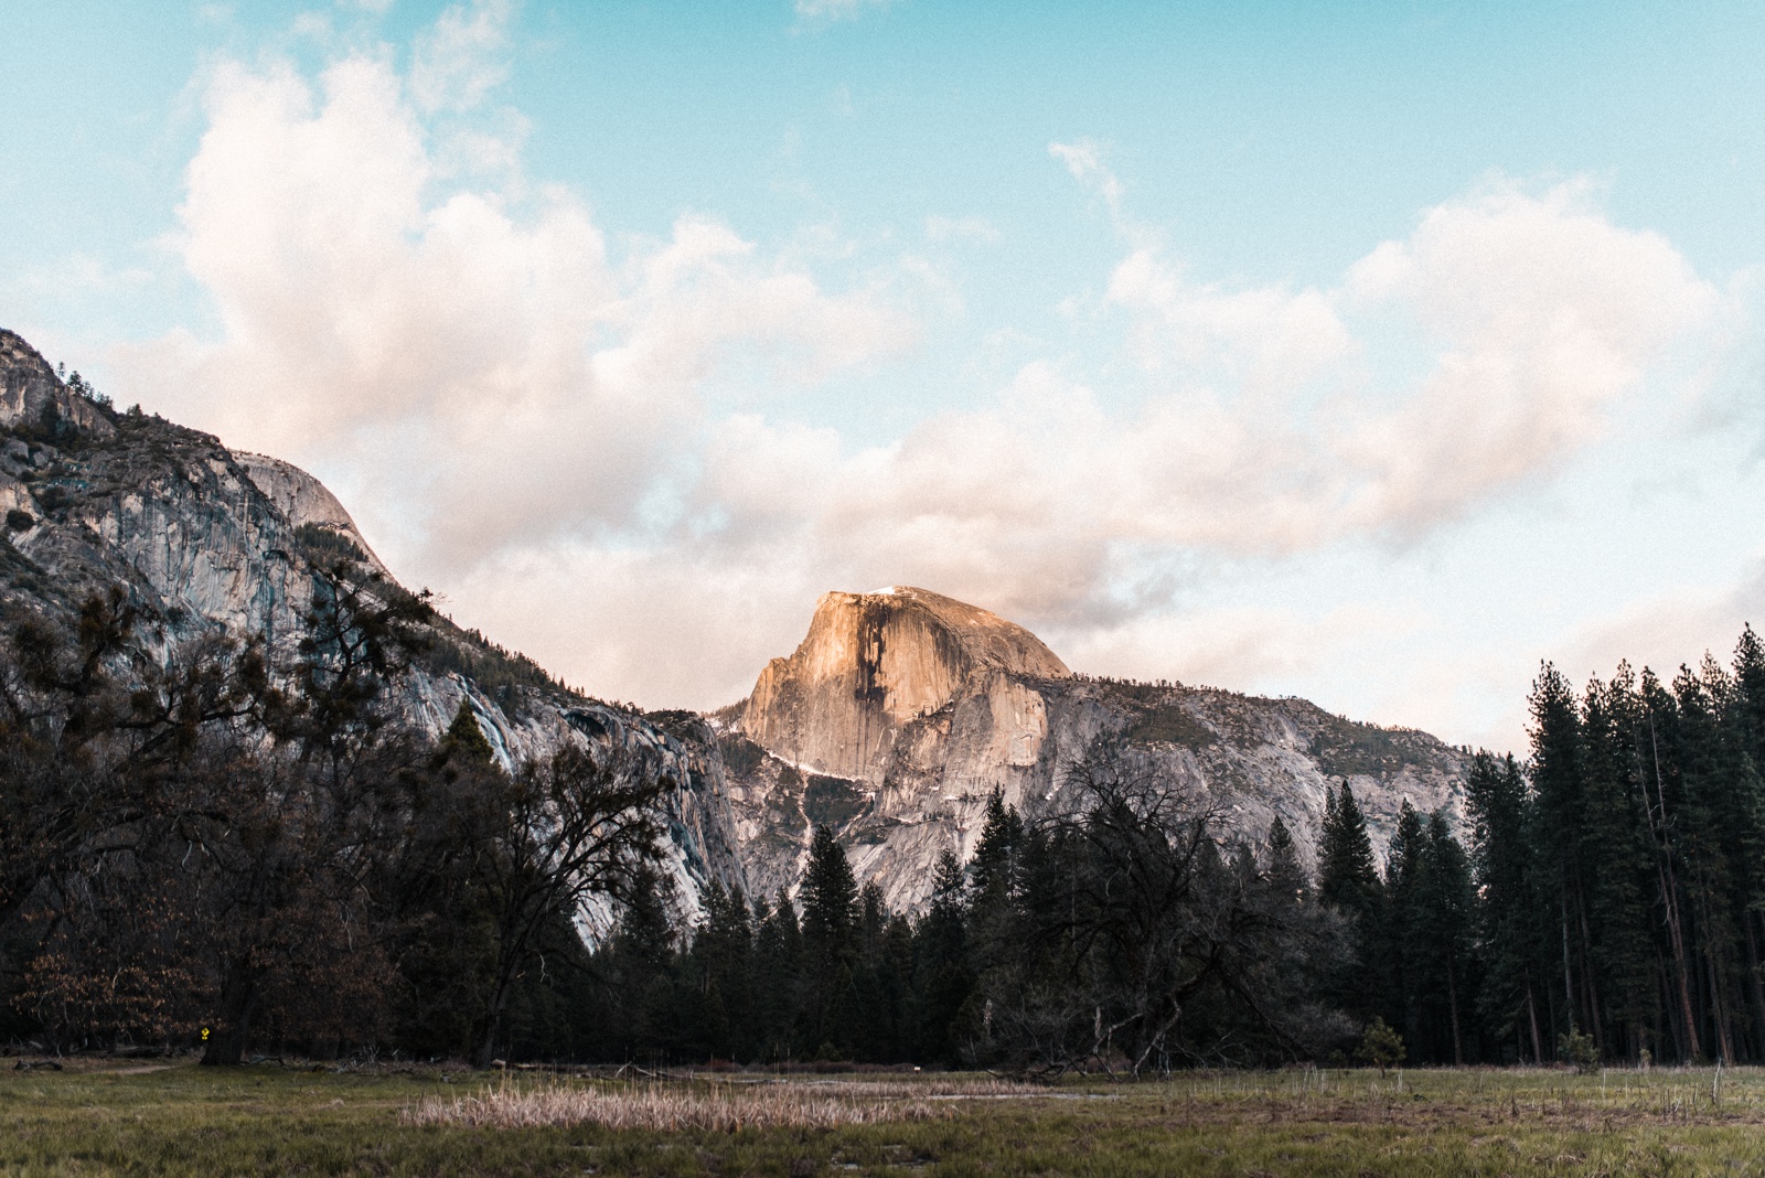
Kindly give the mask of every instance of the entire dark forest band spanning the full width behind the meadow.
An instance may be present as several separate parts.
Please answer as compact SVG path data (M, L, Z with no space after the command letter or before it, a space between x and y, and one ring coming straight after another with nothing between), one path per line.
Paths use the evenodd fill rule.
M814 831L794 894L664 871L660 760L498 767L395 688L436 614L344 557L298 649L154 656L120 593L0 644L0 1040L252 1056L1197 1065L1765 1060L1765 649L1671 682L1544 665L1384 861L1348 781L1315 866L1121 741L994 795L923 912ZM609 913L586 938L584 905Z

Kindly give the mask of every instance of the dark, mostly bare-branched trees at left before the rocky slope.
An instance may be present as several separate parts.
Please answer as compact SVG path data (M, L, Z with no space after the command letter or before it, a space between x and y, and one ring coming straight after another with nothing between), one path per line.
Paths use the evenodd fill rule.
M351 561L284 660L161 661L138 621L111 591L0 649L0 1039L487 1062L552 1000L547 954L582 956L584 901L658 857L653 757L510 774L464 705L439 741L404 723L434 614Z

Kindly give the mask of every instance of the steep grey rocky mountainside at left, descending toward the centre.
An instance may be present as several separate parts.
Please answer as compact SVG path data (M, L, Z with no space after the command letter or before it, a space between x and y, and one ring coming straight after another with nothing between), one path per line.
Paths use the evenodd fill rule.
M339 555L387 573L355 520L316 478L277 459L69 386L0 330L0 628L71 621L120 585L143 652L164 658L205 633L298 642L314 564ZM680 783L667 795L665 866L688 915L711 882L741 887L734 815L711 730L657 723L591 700L533 661L438 619L434 645L399 686L404 719L439 734L464 700L505 767L563 742L648 748ZM605 913L584 913L590 926Z

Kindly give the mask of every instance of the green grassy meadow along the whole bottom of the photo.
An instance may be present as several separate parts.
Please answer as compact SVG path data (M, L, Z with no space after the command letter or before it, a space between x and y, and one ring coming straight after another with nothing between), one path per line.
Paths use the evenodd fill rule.
M655 1123L639 1106L808 1099L870 1120L609 1129L445 1115L535 1093L521 1107L618 1106L635 1125ZM974 1076L621 1085L92 1062L0 1072L0 1173L1765 1174L1765 1070L1227 1072L1020 1095Z

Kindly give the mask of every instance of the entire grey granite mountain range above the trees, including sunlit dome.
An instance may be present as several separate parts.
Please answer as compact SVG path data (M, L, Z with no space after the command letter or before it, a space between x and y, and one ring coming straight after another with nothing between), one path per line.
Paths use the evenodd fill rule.
M289 649L316 563L348 555L392 577L305 471L88 393L0 330L0 628L72 619L122 585L150 656L215 631ZM505 767L563 742L664 757L687 917L711 880L794 889L817 824L861 882L918 908L937 857L973 850L992 790L1057 806L1066 767L1100 739L1205 792L1243 834L1280 815L1304 854L1331 781L1354 783L1382 850L1403 799L1458 808L1465 776L1465 757L1426 734L1304 700L1075 675L1022 626L927 589L824 594L798 649L710 716L582 697L447 619L434 638L395 698L427 732L464 700Z

